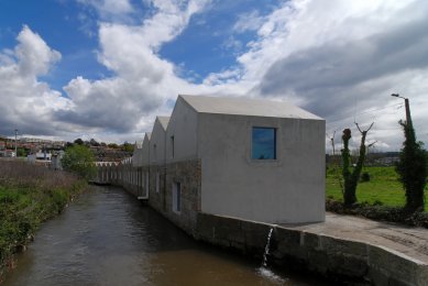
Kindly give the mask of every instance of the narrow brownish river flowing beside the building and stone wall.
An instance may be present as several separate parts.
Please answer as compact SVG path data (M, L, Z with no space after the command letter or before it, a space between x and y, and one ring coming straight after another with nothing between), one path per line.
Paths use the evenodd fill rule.
M194 241L120 188L94 187L39 230L4 285L319 285L260 264Z

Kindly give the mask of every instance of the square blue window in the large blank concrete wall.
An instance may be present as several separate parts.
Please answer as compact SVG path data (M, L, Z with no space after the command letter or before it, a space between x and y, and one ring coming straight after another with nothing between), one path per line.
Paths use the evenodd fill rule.
M276 160L276 129L253 128L251 158Z

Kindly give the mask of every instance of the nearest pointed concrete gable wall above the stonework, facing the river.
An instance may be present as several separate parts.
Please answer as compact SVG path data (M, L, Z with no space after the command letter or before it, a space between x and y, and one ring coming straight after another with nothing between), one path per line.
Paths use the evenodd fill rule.
M198 113L178 97L166 129L167 163L197 157ZM174 157L172 140L174 136Z

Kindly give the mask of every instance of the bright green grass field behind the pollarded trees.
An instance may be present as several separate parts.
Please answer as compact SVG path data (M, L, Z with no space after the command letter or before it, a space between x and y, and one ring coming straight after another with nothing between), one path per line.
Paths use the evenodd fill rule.
M398 182L395 167L364 167L363 172L370 174L370 182L358 185L356 198L359 202L369 202L370 205L380 204L391 207L403 207L405 205L405 193L402 184ZM327 198L343 201L338 174L340 174L340 170L338 173L332 167L328 169L326 196ZM425 190L427 194L428 187ZM427 200L425 202L425 210L428 210Z

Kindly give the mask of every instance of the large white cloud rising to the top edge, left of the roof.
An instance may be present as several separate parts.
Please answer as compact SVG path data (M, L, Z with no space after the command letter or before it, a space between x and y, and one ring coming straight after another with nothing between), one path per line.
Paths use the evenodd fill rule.
M177 92L195 90L162 59L158 47L183 32L202 1L152 1L155 13L141 25L101 23L98 59L114 76L100 80L81 77L64 89L73 107L57 112L65 122L105 131L150 130L155 112L162 112Z

